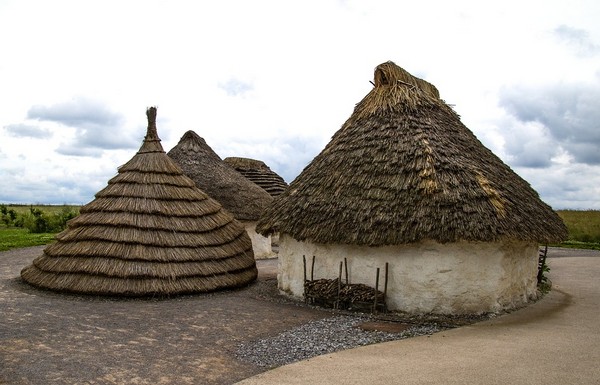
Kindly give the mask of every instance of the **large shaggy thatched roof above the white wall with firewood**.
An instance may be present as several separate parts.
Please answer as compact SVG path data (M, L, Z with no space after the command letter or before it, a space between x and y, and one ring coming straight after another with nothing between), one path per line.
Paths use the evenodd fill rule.
M392 62L378 66L375 87L257 231L371 246L564 239L558 215L438 95Z

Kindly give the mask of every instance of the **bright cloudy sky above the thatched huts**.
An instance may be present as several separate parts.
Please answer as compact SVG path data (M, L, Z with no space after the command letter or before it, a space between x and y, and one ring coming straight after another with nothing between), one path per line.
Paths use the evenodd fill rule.
M0 203L93 199L158 106L291 182L394 61L555 209L600 209L600 2L0 0Z

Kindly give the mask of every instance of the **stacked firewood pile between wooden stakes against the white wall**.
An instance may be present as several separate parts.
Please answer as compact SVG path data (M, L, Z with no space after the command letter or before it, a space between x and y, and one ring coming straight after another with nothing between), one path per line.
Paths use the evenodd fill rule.
M377 295L377 301L375 301L375 295ZM343 283L339 278L306 281L304 298L308 303L336 309L373 307L374 304L385 308L385 296L381 291L362 283Z

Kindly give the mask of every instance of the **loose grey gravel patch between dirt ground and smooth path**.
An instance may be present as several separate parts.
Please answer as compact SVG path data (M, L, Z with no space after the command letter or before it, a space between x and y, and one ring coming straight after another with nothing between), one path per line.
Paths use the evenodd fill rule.
M235 355L257 366L274 368L322 354L442 330L436 324L413 325L399 333L366 331L359 327L371 320L369 317L335 316L312 321L274 337L240 344Z

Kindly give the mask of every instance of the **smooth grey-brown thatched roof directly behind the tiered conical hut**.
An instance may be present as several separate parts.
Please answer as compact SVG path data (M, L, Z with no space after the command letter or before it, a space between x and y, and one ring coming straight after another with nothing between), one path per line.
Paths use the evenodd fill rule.
M167 155L202 191L238 220L258 220L273 201L266 191L223 162L194 131L186 132Z

